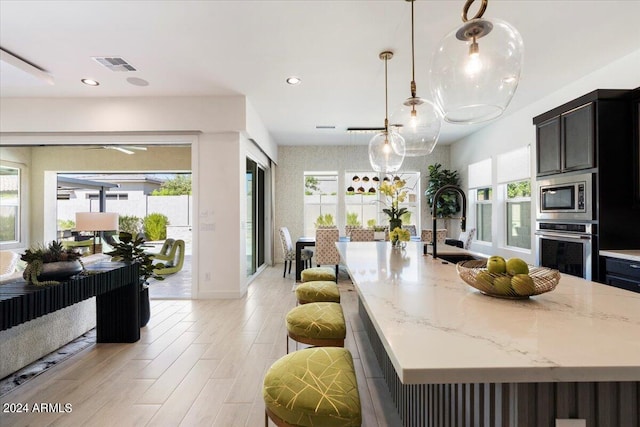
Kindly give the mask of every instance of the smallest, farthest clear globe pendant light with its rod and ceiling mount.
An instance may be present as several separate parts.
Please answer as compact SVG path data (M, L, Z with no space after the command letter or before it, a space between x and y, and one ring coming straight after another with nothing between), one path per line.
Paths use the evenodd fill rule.
M405 155L404 138L394 129L389 128L387 100L387 61L393 58L392 52L379 55L384 60L384 130L369 141L369 162L376 172L392 173L400 169Z

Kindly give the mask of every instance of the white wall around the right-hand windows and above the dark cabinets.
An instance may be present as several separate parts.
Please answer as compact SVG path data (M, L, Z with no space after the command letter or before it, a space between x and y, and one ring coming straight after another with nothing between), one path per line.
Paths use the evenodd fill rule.
M596 89L634 89L640 86L640 50L623 57L608 66L597 70L587 76L576 76L576 80L560 91L540 99L529 106L512 112L511 114L496 120L451 146L451 167L461 172L463 187L467 188L467 166L488 157L493 159L493 184L496 184L496 156L503 152L512 151L526 145L531 146L531 179L535 182L535 142L536 131L533 126L533 117L549 111L572 99L578 98ZM516 94L517 96L517 94ZM532 197L532 224L531 230L535 230L535 197ZM496 215L494 214L494 217ZM519 256L529 263L535 262L534 242L532 240L531 253L513 252L503 248L500 241L504 241L503 227L494 224L496 238L489 246L477 243L472 245L473 250L489 254L503 256Z

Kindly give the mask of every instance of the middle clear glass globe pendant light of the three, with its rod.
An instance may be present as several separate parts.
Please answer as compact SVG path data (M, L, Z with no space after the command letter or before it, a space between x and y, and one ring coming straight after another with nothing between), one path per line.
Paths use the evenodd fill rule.
M442 114L431 101L416 96L416 67L413 34L413 3L411 2L411 97L391 115L393 126L401 125L400 134L404 137L407 157L431 154L440 136Z

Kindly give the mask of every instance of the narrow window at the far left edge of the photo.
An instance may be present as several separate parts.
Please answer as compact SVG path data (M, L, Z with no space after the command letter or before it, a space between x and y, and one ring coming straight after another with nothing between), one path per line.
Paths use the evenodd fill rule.
M0 242L20 240L20 169L0 166Z

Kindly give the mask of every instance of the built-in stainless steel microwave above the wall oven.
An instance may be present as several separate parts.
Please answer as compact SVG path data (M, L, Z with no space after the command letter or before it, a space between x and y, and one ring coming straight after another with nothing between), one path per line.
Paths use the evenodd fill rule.
M538 181L537 219L595 220L593 174L556 176Z

